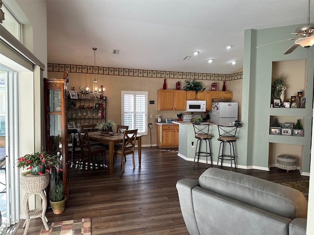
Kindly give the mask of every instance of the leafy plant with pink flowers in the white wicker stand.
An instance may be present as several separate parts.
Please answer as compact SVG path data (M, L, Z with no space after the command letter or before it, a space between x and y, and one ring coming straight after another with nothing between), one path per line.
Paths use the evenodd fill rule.
M50 155L47 152L37 152L32 154L26 154L24 157L18 159L17 166L19 168L25 168L31 170L33 167L39 167L41 170L35 172L35 174L42 175L45 171L50 172L50 169L55 168L57 172L60 168L61 162L57 155ZM32 171L30 172L32 174Z

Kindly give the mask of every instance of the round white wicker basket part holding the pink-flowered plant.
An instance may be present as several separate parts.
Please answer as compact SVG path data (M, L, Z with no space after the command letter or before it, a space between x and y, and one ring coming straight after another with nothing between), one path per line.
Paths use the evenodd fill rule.
M43 175L31 175L29 173L22 173L21 188L28 193L37 193L45 190L49 184L49 172Z

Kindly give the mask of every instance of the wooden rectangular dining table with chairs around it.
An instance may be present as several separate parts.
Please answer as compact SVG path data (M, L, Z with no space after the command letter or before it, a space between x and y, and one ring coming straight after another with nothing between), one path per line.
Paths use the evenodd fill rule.
M102 134L100 131L88 132L89 140L109 145L109 174L113 174L114 144L123 141L123 133ZM141 167L142 136L137 135L138 165Z

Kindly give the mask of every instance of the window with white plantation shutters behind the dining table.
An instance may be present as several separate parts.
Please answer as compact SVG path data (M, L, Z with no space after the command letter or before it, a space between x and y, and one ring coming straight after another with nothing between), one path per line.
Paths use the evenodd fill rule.
M129 130L138 129L140 135L147 135L147 92L121 91L122 125Z

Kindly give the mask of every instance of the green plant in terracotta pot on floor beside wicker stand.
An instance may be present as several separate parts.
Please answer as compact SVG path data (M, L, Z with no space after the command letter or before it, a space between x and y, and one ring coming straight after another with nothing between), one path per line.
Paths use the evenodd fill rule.
M63 189L62 181L57 181L54 186L52 186L50 205L54 214L61 214L64 211L67 198L63 196Z

